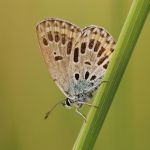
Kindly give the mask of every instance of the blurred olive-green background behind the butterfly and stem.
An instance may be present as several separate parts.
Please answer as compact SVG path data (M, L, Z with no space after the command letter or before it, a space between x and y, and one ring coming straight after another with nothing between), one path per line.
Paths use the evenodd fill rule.
M35 25L58 17L103 26L117 40L131 3L0 0L0 150L70 150L83 123L61 106L43 120L64 95L43 63ZM149 34L148 17L94 150L150 150Z

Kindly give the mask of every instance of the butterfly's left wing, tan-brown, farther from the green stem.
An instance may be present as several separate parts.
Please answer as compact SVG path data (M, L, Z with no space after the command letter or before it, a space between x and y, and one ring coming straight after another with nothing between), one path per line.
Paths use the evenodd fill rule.
M67 96L70 54L81 30L67 21L50 18L39 23L36 31L48 70L57 86Z

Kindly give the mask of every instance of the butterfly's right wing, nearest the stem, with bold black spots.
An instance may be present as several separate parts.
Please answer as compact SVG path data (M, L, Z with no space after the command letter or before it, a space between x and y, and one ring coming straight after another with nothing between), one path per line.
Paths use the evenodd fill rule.
M74 76L74 84L79 85L79 82L84 80L84 83L87 82L87 85L83 86L87 87L85 90L90 92L97 88L114 48L115 41L104 28L91 25L83 29L71 53L69 68Z

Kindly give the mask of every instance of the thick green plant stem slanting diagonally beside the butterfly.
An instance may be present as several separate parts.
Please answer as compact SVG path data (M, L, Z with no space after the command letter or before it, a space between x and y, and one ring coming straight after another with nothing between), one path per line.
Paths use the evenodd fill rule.
M118 38L112 61L104 77L104 80L109 81L109 83L101 85L94 100L94 105L97 105L99 108L91 108L89 111L87 122L83 124L73 150L91 150L93 148L142 27L144 26L149 8L150 0L133 1Z

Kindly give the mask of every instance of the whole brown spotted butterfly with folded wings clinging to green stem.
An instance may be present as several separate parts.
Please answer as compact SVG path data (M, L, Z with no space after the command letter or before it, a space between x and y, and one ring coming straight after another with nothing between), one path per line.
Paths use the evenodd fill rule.
M93 97L115 49L113 37L102 27L90 25L84 29L58 18L46 19L36 26L41 52L48 71L56 85L67 97L46 113L45 118L60 103L74 106L80 112L82 105Z

